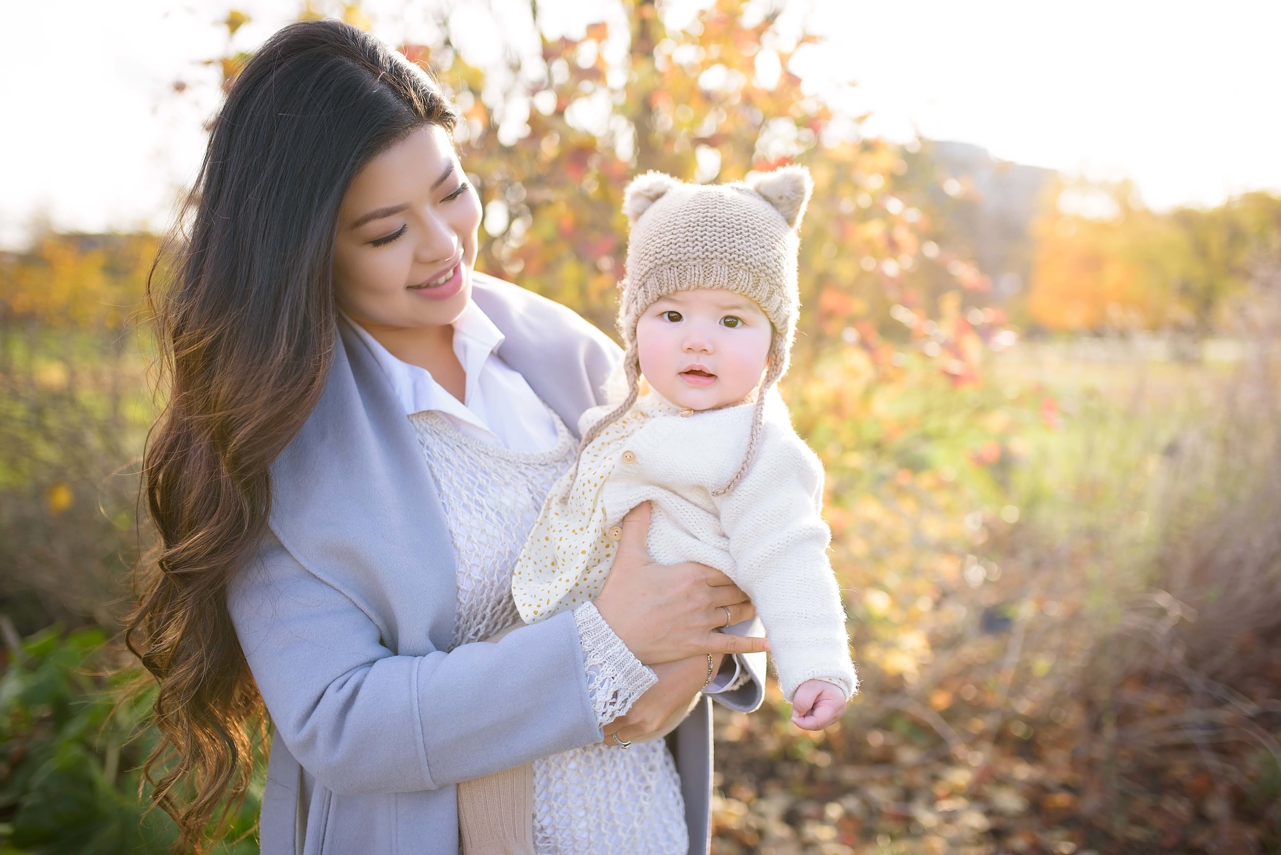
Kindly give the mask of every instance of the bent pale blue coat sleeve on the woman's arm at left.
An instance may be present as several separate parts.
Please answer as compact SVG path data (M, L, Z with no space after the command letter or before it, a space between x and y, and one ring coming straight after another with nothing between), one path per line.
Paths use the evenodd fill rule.
M272 535L228 605L278 739L334 792L432 790L603 739L569 612L496 644L396 655Z

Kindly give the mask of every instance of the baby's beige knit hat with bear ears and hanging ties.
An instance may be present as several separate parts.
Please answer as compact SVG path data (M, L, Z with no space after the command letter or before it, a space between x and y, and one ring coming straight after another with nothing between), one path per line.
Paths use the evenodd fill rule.
M797 229L812 192L804 166L783 166L729 184L687 184L649 172L628 184L623 212L632 234L619 305L628 397L583 436L583 447L635 403L640 376L637 321L649 305L678 291L724 288L755 301L774 325L747 453L734 477L714 495L738 485L756 452L765 394L788 370L801 306Z

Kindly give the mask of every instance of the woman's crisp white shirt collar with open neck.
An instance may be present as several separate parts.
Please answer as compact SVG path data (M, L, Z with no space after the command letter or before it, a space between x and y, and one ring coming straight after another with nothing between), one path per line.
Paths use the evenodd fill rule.
M354 321L356 335L378 361L405 415L434 410L460 430L515 452L546 452L556 447L551 411L525 378L497 355L505 337L474 302L453 321L453 355L466 375L459 401L427 369L404 362Z

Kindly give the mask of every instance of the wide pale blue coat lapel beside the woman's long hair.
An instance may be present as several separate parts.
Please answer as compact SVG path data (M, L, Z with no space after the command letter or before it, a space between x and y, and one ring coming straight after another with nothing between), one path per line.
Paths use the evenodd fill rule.
M272 468L272 530L397 653L453 636L452 539L414 427L345 320L319 403Z

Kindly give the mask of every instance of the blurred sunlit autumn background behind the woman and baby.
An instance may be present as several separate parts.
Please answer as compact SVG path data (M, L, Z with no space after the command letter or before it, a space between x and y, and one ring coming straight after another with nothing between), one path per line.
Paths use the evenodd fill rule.
M611 328L621 189L817 182L784 383L862 694L717 709L714 851L1281 851L1281 120L1268 3L4 9L0 852L160 852L117 644L142 293L291 19L437 70L478 266ZM993 154L997 152L997 154ZM260 772L261 778L261 772ZM261 781L215 851L256 852Z

